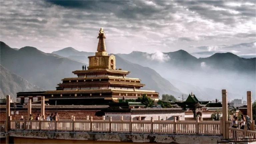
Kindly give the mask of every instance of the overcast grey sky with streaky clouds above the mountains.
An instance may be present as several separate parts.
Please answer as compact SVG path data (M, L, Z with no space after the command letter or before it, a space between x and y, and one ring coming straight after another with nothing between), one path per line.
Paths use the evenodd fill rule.
M103 27L109 53L186 50L196 57L255 57L252 1L1 1L0 38L12 48L95 52Z

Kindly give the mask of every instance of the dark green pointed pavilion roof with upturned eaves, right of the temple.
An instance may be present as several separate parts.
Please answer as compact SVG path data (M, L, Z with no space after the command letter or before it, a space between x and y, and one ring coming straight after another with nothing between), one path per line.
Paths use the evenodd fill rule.
M199 101L194 94L189 94L185 102L175 102L182 108L195 108L206 106L209 101Z

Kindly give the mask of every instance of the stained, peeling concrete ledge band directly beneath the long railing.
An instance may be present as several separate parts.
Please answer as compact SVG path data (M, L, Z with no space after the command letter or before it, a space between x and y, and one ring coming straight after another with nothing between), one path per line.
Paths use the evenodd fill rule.
M178 134L143 134L143 133L93 133L66 131L10 131L11 137L94 140L135 143L185 143L209 144L221 140L221 135L178 135Z

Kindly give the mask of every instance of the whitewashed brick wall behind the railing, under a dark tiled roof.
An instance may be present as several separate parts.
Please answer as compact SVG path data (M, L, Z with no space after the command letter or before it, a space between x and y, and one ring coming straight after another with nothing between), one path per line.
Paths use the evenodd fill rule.
M112 117L112 120L120 120L120 117L123 116L123 120L130 120L130 117L132 116L133 120L137 120L137 117L145 117L144 120L151 120L151 117L153 117L153 120L158 120L158 116L160 116L160 120L173 120L174 116L181 116L180 120L185 120L185 113L184 112L175 112L175 113L105 113L105 119L109 120L110 117Z

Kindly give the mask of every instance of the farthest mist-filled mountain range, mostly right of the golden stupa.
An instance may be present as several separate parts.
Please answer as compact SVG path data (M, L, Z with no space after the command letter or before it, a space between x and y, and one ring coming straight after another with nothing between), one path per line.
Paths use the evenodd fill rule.
M61 53L59 51L54 53L84 63L88 63L87 57L91 55L81 52L82 54L75 56L79 51L70 53L70 51L65 52L64 49ZM153 54L133 51L130 54L114 55L118 67L120 58L149 67L182 93L187 95L189 91L193 91L200 99L221 99L221 89L228 89L230 97L240 99L246 96L246 91L255 92L256 58L241 58L233 53L215 53L207 58L196 58L184 50ZM124 67L126 68L126 65L120 65L120 68ZM133 73L132 70L131 72Z

